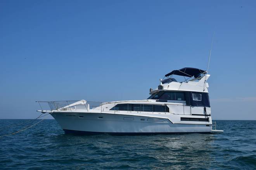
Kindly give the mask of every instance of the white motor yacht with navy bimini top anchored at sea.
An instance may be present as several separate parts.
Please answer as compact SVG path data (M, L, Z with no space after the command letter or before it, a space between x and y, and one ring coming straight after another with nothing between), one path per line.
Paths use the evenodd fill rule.
M178 82L173 76L183 76ZM114 102L37 101L38 112L54 117L65 133L116 135L221 133L212 122L209 74L197 68L173 70L150 88L145 100ZM49 109L44 109L47 104Z

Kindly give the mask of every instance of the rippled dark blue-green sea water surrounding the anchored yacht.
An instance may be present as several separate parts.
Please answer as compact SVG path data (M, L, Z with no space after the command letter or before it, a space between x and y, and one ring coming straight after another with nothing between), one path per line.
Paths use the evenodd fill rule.
M0 119L0 136L29 122ZM224 133L78 136L43 120L0 138L0 169L256 169L256 121L216 122Z

